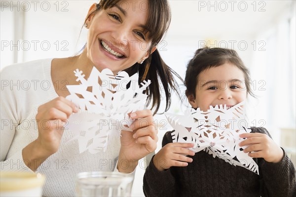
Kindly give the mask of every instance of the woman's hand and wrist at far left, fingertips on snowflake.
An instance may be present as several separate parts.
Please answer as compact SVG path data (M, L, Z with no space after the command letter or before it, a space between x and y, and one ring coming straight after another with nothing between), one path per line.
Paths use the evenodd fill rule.
M73 112L78 112L78 108L62 96L38 107L38 138L23 149L23 159L32 161L28 167L36 170L46 158L58 151L63 126Z

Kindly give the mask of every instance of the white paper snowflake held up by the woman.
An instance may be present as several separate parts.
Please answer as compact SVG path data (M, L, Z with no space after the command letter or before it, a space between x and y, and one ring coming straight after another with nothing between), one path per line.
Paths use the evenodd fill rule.
M151 81L144 80L140 86L138 73L130 77L119 72L114 76L110 69L99 72L95 67L88 79L78 69L74 74L80 84L67 85L71 94L66 98L79 107L79 112L72 114L65 126L73 133L66 143L78 140L79 153L106 151L114 135L120 135L121 130L132 131L129 126L134 120L129 115L146 108L143 91Z

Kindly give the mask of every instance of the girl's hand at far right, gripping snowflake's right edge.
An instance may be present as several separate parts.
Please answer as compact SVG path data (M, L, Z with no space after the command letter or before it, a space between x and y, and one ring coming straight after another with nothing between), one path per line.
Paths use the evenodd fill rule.
M244 152L252 158L264 158L265 161L277 163L284 157L284 152L270 137L263 133L243 133L241 138L248 138L239 146L248 146Z

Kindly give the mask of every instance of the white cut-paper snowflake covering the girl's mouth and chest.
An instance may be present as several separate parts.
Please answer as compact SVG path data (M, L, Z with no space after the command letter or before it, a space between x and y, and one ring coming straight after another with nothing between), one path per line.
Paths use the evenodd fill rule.
M173 142L193 143L194 147L190 150L195 153L203 150L214 158L221 158L259 174L257 163L243 152L247 147L238 145L245 140L239 134L251 132L245 120L244 105L245 101L229 109L226 105L210 106L206 112L199 108L191 109L183 116L165 113L175 129L172 132Z

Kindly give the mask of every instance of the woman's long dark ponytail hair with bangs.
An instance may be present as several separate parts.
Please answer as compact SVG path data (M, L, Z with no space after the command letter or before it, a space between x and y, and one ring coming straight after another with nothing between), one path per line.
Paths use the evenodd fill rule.
M99 4L97 4L97 9L90 13L89 16L95 14L101 9L106 10L111 8L115 4L119 3L119 1L120 0L101 0ZM171 23L171 10L168 1L148 0L148 13L148 20L146 23L147 29L144 30L144 33L149 32L148 39L151 40L151 47L148 49L148 52L150 54L152 48L160 42ZM84 22L86 22L87 18ZM171 105L172 89L180 97L178 85L173 75L181 79L181 81L183 81L183 79L164 63L157 49L149 55L143 64L136 63L125 71L130 75L139 72L139 82L145 79L150 79L152 81L145 93L148 94L147 106L152 100L151 109L155 107L154 114L157 113L160 107L161 90L164 90L166 97L165 111L167 111ZM158 79L160 79L162 83L162 88L160 88Z

